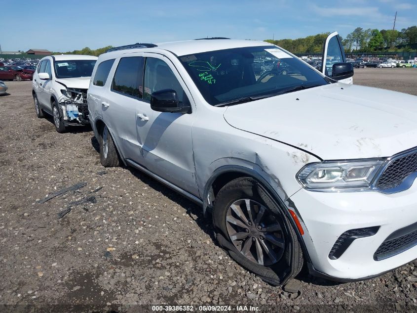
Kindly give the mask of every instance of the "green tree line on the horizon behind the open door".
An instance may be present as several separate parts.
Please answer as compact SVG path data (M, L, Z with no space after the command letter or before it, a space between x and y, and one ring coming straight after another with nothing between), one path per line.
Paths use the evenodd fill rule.
M293 53L321 53L329 34L323 33L298 39L267 39L265 42L278 45ZM347 34L346 38L341 38L341 42L346 52L410 51L417 48L417 26L404 28L401 31L357 27Z

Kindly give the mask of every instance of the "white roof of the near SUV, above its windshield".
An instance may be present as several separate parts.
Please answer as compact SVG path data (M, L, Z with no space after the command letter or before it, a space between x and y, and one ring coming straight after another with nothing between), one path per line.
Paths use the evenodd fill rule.
M178 56L192 54L192 53L200 53L206 51L214 51L214 50L223 50L223 49L231 49L231 48L240 48L246 46L260 46L260 45L271 45L275 46L266 42L262 41L254 41L254 40L234 40L234 39L212 39L212 40L187 40L187 41L179 41L179 42L169 42L169 43L160 43L156 44L156 47L152 48L137 48L137 49L129 49L129 53L132 52L147 52L147 51L155 51L155 50L168 50L175 53ZM119 54L123 50L112 51L109 53Z

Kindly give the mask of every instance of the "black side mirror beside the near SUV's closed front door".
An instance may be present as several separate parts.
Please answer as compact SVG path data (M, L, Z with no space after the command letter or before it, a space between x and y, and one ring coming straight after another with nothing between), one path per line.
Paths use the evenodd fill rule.
M151 109L158 112L190 113L191 107L180 106L177 91L174 89L163 89L151 94Z

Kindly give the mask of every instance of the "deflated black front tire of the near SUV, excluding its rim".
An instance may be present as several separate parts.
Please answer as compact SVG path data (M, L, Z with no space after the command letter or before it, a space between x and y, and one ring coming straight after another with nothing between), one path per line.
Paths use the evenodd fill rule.
M229 222L226 219L229 207L239 199L250 199L264 206L266 208L265 212L268 212L282 227L282 236L285 240L285 245L281 257L276 263L261 265L259 261L256 262L256 260L247 258L233 244L227 230L227 223ZM213 224L217 232L219 244L228 251L230 257L239 265L252 271L266 282L273 285L282 285L301 271L303 267L303 252L297 234L288 218L257 180L252 178L239 178L228 182L216 196L213 209ZM249 230L249 232L251 231ZM263 237L261 236L260 238L262 239ZM264 239L262 240L264 241ZM245 242L241 244L242 250ZM258 240L258 242L260 241Z

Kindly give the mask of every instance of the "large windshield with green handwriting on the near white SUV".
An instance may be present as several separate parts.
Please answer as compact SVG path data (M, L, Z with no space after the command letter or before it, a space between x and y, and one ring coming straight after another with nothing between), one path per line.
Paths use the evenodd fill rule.
M195 53L179 59L211 105L329 84L305 62L271 45Z

